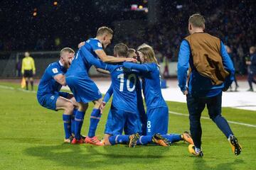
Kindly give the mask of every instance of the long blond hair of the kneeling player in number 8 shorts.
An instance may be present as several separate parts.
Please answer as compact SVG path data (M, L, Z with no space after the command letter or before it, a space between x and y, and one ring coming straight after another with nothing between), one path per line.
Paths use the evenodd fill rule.
M137 51L142 52L146 62L154 62L158 67L160 67L159 63L156 60L154 50L151 46L144 43L138 47Z

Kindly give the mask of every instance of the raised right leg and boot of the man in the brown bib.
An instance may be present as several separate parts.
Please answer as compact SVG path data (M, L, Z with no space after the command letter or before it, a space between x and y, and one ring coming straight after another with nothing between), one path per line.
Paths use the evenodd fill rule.
M233 135L230 125L228 125L228 121L221 115L221 101L222 93L209 98L206 103L208 114L210 115L210 119L213 120L225 137L227 137L228 141L230 141L234 154L238 155L242 151L242 147L240 146L238 139Z

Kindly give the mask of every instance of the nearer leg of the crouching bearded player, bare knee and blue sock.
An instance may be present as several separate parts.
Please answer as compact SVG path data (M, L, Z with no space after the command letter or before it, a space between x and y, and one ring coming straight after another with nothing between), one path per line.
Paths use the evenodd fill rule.
M70 142L71 137L71 115L73 113L73 103L69 101L67 98L63 98L59 96L56 101L56 110L63 109L63 123L64 123L64 131L65 131L65 142Z

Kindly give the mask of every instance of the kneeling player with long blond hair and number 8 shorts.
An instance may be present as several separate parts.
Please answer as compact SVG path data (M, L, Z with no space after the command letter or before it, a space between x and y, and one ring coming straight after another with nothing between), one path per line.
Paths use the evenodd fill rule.
M168 131L169 109L161 94L160 66L151 46L143 44L138 47L137 53L142 64L124 62L124 67L137 69L142 74L142 88L146 101L147 123L146 135L139 138L139 144L146 145L153 141L159 145L167 146L170 141L177 142L179 140L186 140L189 143L193 143L187 132L184 132L182 135L166 135ZM134 137L134 139L136 138L137 137ZM130 142L131 146L136 143L134 142L136 140L132 141L133 142Z

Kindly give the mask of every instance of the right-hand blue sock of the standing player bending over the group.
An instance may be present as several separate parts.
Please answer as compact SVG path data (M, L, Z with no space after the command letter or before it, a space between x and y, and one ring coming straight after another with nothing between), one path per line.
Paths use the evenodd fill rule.
M101 113L100 109L94 108L91 113L90 117L90 128L88 132L88 137L94 137L95 136L95 131L97 129L97 124L100 121Z

